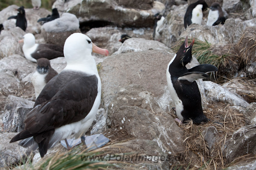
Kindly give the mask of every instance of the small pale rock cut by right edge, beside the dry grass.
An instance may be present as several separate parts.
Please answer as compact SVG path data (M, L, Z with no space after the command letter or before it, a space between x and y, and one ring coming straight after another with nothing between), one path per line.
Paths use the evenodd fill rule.
M243 115L245 116L246 124L256 124L256 103L250 103Z

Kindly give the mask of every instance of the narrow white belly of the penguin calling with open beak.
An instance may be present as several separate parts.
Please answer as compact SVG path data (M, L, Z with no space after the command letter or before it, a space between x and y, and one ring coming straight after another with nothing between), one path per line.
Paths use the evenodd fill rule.
M166 69L166 79L167 79L167 85L168 85L168 88L169 88L169 91L170 91L172 101L175 104L176 114L177 114L179 120L182 122L183 121L183 116L181 115L181 112L183 111L184 107L183 107L182 101L179 99L179 97L178 97L178 95L177 95L177 93L176 93L176 91L173 87L173 83L172 83L172 80L171 80L171 75L169 73L169 66L171 65L171 63L173 62L175 57L176 57L176 54L168 64L168 67Z

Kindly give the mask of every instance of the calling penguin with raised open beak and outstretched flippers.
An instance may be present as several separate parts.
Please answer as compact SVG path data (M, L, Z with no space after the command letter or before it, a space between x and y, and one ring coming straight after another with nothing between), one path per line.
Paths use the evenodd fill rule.
M186 37L167 66L166 79L179 120L183 122L192 119L193 123L197 124L208 122L208 119L203 113L201 95L195 80L208 78L207 72L218 71L218 69L210 64L201 64L187 69L186 65L192 59L193 44L194 39L188 45Z

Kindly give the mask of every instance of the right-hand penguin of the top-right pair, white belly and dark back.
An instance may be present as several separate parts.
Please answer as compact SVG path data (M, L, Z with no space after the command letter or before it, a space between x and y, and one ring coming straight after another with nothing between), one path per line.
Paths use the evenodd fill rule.
M224 16L224 12L219 3L214 2L211 4L210 11L208 14L208 19L206 25L215 26L219 24L224 24L226 21L226 17Z

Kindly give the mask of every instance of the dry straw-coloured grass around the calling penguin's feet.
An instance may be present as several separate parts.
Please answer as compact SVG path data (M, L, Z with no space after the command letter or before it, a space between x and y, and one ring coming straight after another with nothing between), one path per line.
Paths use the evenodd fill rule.
M222 155L222 147L225 142L232 137L234 131L246 125L242 113L231 110L229 105L210 104L204 114L210 120L218 123L213 121L200 125L194 125L192 121L185 124L177 123L185 134L183 144L186 146L186 151L181 153L180 164L172 165L170 169L220 170L235 164L256 160L256 155L249 154L228 163ZM171 115L176 118L174 113ZM209 126L214 126L218 131L218 137L211 150L208 148L203 135L203 131Z

